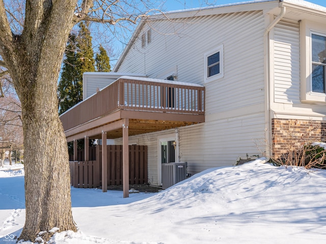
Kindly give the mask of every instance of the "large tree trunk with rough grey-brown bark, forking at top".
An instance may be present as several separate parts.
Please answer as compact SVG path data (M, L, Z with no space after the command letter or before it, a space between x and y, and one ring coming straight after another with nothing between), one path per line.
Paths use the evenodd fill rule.
M24 29L13 35L0 0L0 54L21 101L26 220L19 239L58 227L76 231L68 149L58 114L57 81L73 26L72 0L26 1ZM44 240L51 236L45 232Z

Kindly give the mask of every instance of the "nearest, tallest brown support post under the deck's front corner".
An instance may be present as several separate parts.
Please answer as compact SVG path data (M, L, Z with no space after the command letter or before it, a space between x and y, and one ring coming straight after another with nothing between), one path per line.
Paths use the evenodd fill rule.
M123 119L122 125L122 184L123 184L123 197L129 197L129 143L128 132L129 119Z

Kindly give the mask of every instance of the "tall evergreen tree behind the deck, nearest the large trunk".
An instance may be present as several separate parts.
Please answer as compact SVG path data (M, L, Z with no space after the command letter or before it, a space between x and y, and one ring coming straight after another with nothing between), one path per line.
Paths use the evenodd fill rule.
M92 37L89 25L79 23L79 32L70 35L58 85L59 114L83 100L83 74L95 71Z

